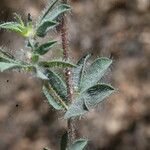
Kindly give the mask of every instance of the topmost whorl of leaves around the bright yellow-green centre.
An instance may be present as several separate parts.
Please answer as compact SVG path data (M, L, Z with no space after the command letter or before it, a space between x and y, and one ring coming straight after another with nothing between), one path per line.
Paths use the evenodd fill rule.
M25 23L21 16L15 13L15 21L0 24L0 29L19 33L23 37L44 37L49 30L54 29L59 24L57 18L71 9L66 4L59 4L55 7L57 2L58 0L54 0L35 23L30 15L27 23Z

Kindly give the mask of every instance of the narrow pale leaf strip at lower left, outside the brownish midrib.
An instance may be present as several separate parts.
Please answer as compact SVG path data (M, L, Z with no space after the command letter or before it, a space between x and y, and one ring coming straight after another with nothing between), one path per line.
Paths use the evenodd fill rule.
M43 86L43 93L51 106L53 106L56 110L63 109L63 107L49 93L49 90L46 88L46 86Z

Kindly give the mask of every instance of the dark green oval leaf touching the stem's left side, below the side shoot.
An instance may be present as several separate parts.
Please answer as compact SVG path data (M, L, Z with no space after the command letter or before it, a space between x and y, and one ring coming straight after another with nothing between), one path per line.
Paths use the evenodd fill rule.
M49 84L63 100L67 100L67 87L65 82L53 71L46 70L46 77L49 79Z

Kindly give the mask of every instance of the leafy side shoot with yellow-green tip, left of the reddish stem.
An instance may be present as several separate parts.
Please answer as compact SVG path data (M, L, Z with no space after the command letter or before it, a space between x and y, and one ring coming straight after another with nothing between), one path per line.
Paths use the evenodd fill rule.
M50 40L48 42L39 44L37 42L38 37L44 37L49 30L55 29L59 24L56 20L64 12L69 11L71 8L69 5L59 4L56 6L58 0L54 0L48 8L46 8L42 16L38 18L36 22L33 22L31 18L28 18L27 23L24 22L18 14L14 14L14 22L6 22L0 24L0 29L15 32L25 37L27 41L27 59L29 61L24 62L22 60L14 59L7 51L0 49L0 71L3 72L8 69L19 68L25 71L33 72L37 77L48 80L44 75L44 71L50 68L67 68L74 67L75 65L71 62L64 60L50 60L41 61L43 55L48 53L57 44L56 40Z

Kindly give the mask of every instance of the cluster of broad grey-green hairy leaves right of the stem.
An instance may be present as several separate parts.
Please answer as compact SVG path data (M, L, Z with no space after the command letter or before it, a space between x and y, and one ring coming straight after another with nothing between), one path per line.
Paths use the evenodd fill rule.
M82 57L77 67L73 68L75 100L65 114L66 119L82 116L115 91L111 85L99 82L112 64L112 60L104 57L97 58L88 67L89 57L89 54Z

